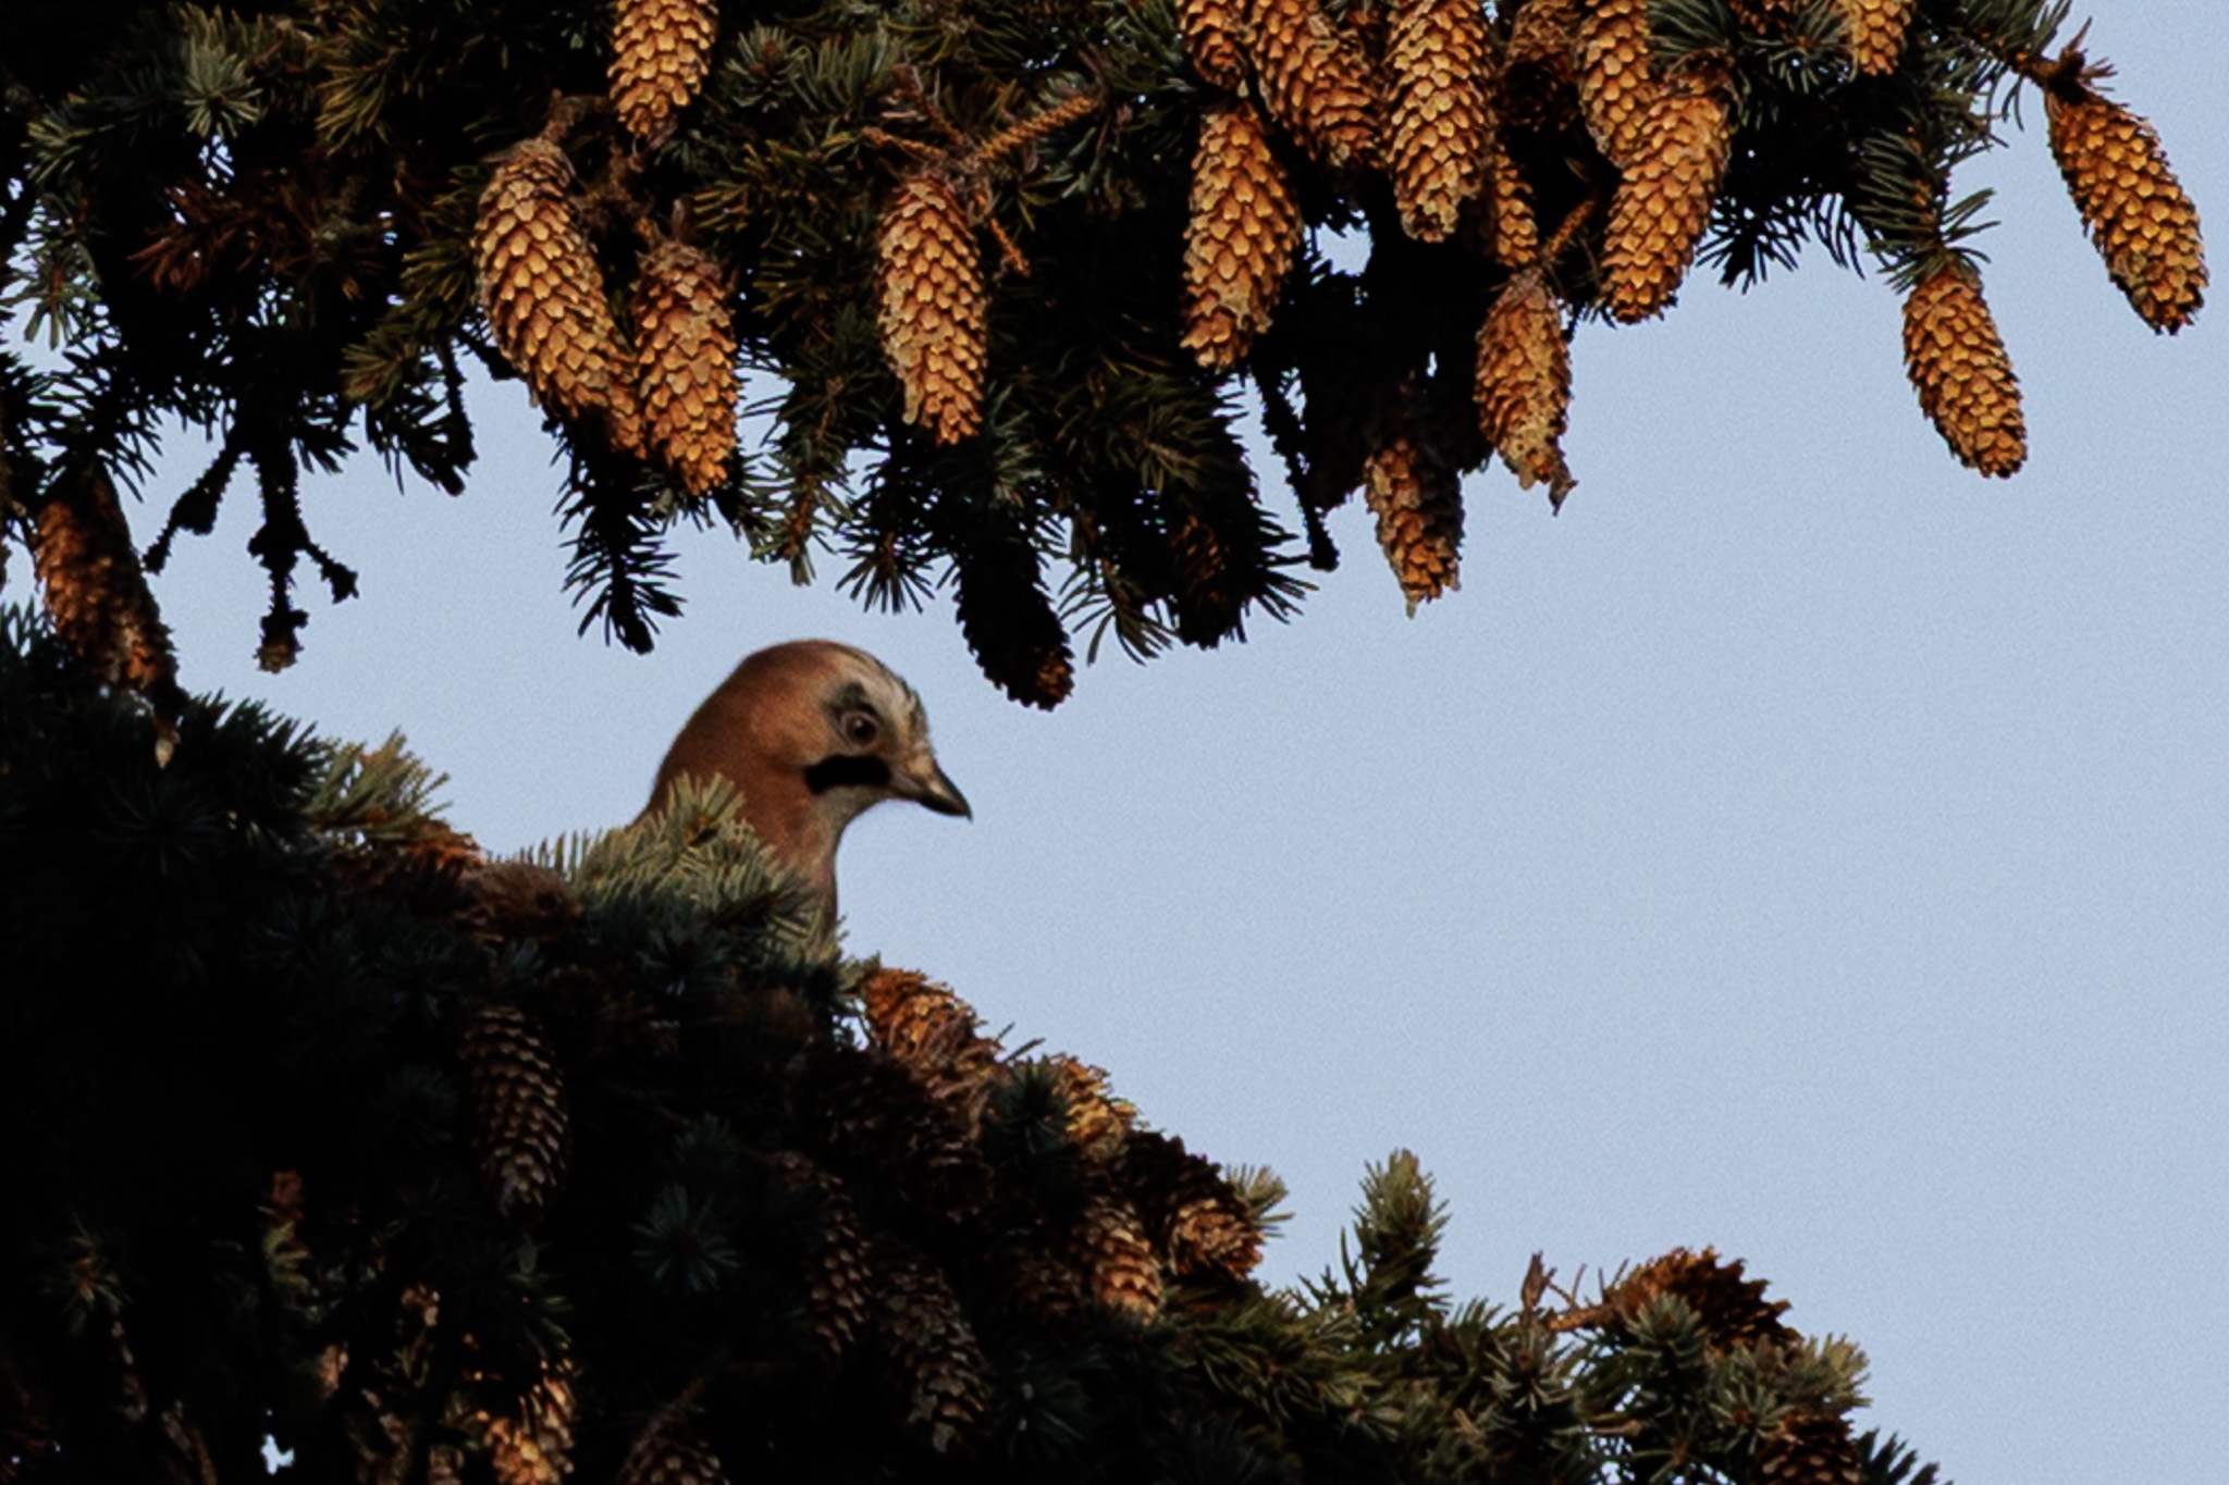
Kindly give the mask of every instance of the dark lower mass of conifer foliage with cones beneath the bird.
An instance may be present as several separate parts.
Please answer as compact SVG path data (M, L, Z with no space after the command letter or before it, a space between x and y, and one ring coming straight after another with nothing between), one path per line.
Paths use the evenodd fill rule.
M1340 1262L1103 1071L847 962L724 786L531 862L401 750L0 612L0 1485L1928 1485L1678 1249L1509 1307L1415 1160Z

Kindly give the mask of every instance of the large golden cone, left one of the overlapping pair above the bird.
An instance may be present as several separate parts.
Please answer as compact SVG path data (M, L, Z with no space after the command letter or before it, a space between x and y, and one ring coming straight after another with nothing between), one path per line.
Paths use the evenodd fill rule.
M573 209L564 151L531 138L504 156L479 196L473 258L495 347L535 401L566 421L602 419L611 448L640 452L633 358Z

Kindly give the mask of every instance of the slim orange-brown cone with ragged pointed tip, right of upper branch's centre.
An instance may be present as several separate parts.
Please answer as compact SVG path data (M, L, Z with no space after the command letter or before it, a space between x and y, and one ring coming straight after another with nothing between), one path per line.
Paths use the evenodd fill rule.
M1563 508L1576 483L1563 463L1563 430L1571 410L1571 347L1563 301L1538 269L1516 274L1478 327L1478 432L1531 490Z

